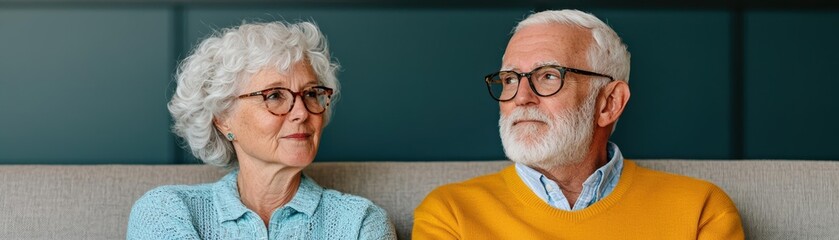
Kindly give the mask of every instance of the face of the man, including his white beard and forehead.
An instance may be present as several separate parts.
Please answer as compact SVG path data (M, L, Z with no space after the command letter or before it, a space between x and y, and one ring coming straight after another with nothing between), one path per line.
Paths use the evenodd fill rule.
M561 24L528 26L510 39L504 70L530 72L544 65L590 70L590 30ZM595 94L587 76L568 73L562 89L539 97L522 79L516 97L500 102L502 143L516 162L549 168L582 161L593 132Z

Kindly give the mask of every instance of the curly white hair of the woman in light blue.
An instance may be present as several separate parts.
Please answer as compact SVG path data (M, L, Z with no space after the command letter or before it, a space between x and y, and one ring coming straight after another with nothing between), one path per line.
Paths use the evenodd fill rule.
M279 72L308 60L319 84L334 89L330 107L324 112L329 123L340 95L326 38L309 22L246 23L226 28L202 41L177 71L177 89L169 102L174 125L198 159L207 164L235 163L233 145L213 124L234 106L236 95L253 74L266 68Z

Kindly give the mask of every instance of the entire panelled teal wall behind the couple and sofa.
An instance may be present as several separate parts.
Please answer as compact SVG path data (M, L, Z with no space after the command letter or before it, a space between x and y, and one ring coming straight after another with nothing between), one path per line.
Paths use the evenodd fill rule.
M530 7L0 5L0 163L189 163L177 62L212 29L314 20L343 96L318 161L503 159L497 70ZM632 52L631 158L839 159L839 11L590 8Z

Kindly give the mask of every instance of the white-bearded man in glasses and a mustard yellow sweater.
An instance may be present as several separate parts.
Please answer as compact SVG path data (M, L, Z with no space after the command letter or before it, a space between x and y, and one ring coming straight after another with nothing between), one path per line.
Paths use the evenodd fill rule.
M515 165L431 192L414 239L743 239L719 187L640 167L608 141L629 100L629 52L605 23L532 14L502 62L486 83Z

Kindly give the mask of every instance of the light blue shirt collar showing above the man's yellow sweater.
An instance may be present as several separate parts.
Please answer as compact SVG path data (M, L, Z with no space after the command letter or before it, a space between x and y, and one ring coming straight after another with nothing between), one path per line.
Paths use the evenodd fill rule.
M612 142L606 145L606 150L609 162L595 170L583 182L583 191L580 192L580 197L577 198L573 208L569 205L559 185L544 174L521 163L516 163L516 173L530 187L530 190L536 193L536 196L551 206L566 211L582 210L608 196L618 185L618 179L623 170L623 155L618 146Z

